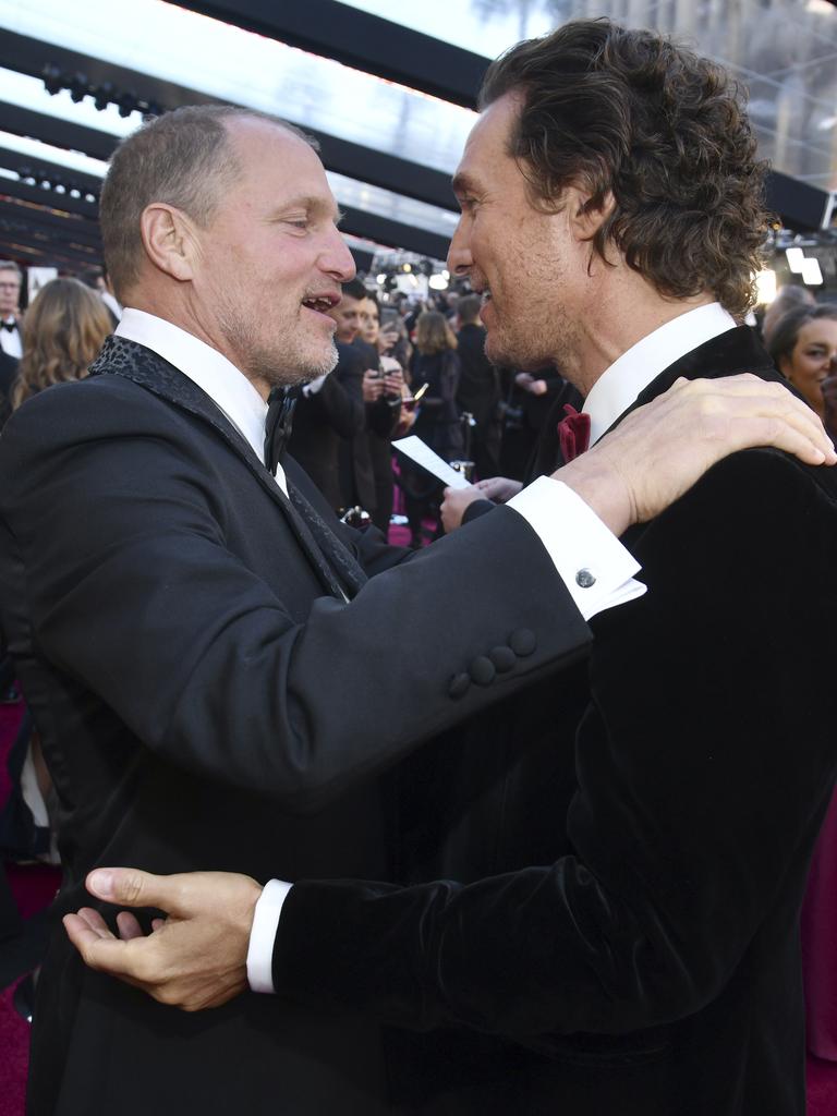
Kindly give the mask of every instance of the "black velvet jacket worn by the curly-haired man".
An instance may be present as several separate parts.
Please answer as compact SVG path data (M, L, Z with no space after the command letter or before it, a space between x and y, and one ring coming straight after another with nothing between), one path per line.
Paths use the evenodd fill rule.
M779 378L740 328L637 405L743 371ZM837 766L836 481L768 450L719 463L628 533L648 593L593 620L587 664L416 759L456 790L414 804L413 876L462 883L292 888L279 989L436 1029L403 1078L410 1110L802 1116L797 920Z

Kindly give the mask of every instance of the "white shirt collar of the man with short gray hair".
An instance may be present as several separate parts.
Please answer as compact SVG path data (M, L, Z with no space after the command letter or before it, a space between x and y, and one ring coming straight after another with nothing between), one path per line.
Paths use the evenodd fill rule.
M222 353L174 323L131 307L123 310L114 333L117 337L144 345L189 376L250 443L256 456L262 460L268 405L247 376ZM276 480L287 496L281 465L277 468Z

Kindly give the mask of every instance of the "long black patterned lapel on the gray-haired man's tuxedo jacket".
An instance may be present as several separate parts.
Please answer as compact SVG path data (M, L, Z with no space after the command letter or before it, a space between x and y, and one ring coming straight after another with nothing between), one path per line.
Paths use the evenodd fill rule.
M186 411L208 423L247 464L258 483L279 504L288 526L297 538L306 558L317 573L324 588L338 599L345 599L339 581L324 559L320 548L308 527L253 452L252 446L225 417L206 393L174 365L156 353L123 337L110 336L90 365L90 375L124 376L167 403ZM339 543L337 543L339 545Z

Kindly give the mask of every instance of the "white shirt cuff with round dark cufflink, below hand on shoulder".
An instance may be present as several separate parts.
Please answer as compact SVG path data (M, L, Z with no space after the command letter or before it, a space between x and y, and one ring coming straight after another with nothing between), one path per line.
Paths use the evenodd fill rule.
M506 504L526 519L547 548L586 620L641 597L641 566L573 489L539 477Z

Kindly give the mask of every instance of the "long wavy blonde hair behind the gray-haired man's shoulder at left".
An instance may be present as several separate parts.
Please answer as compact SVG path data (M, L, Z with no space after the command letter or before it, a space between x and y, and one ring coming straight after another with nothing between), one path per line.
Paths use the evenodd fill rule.
M45 387L83 379L110 333L98 295L77 279L52 279L23 315L23 356L12 410Z

